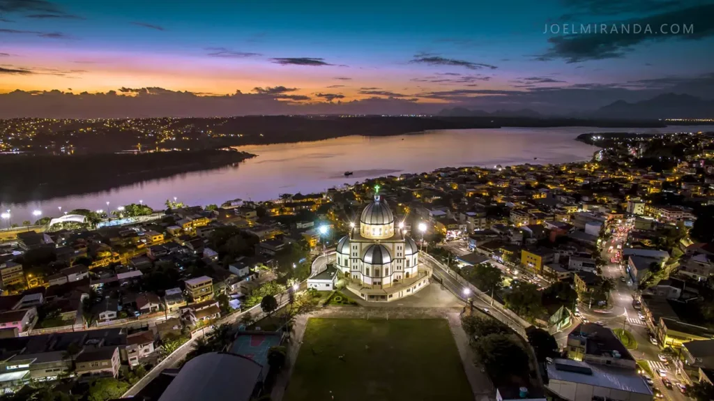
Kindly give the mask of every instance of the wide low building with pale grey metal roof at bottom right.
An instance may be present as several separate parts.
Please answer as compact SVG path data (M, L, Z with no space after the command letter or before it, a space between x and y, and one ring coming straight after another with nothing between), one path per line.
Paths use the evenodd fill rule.
M560 400L652 401L652 390L635 370L554 358L545 366L548 390Z

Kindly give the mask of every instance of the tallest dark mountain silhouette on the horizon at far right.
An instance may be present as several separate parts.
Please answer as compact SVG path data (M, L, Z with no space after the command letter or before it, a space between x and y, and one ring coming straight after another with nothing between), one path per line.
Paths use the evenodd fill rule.
M654 98L628 103L615 101L590 113L593 118L654 119L654 118L711 118L714 101L690 95L664 93Z

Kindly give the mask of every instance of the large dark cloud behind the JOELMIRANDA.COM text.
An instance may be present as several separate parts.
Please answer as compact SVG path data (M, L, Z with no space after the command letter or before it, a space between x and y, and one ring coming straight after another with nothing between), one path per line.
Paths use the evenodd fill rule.
M603 34L570 34L565 36L553 36L548 39L550 49L545 54L538 55L535 60L550 61L553 59L564 59L568 63L579 63L587 60L616 59L625 56L633 48L648 42L680 40L692 41L714 36L714 4L702 4L691 6L685 9L664 11L660 14L646 16L638 19L628 19L608 23L608 33ZM640 34L633 34L632 28L637 24L641 27ZM683 26L693 26L691 34L663 34L660 27L663 25L673 26L678 24L680 32ZM623 32L622 27L629 26L630 33ZM645 32L645 27L649 26L651 33ZM617 33L611 27L618 29ZM576 25L578 31L582 31ZM665 28L669 29L669 28ZM591 31L593 29L591 28Z

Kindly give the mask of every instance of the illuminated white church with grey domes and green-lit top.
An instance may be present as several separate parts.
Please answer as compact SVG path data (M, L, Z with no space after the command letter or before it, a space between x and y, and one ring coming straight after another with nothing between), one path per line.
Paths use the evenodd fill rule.
M364 300L396 300L428 284L416 242L395 227L381 196L362 210L359 225L339 240L336 251L336 268L349 278L347 288Z

